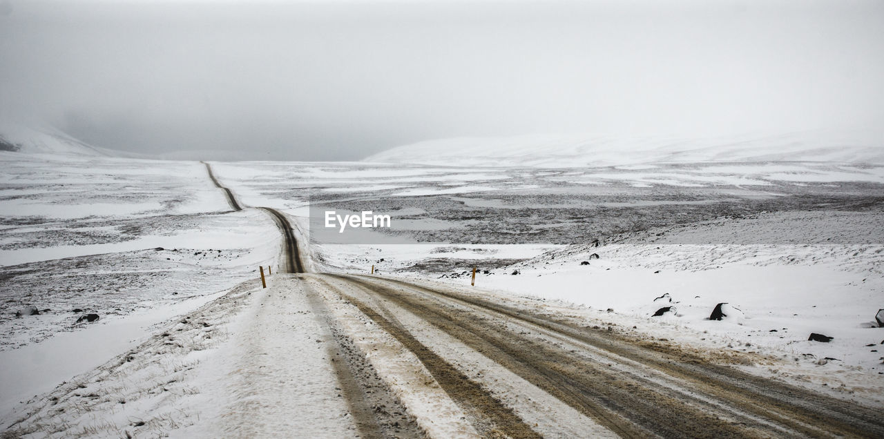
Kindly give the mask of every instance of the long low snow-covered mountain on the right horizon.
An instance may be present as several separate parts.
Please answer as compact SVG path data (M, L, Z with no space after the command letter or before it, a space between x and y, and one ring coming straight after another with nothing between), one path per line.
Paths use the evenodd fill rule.
M392 148L364 161L552 168L694 162L884 163L884 132L794 132L706 139L604 135L457 138Z

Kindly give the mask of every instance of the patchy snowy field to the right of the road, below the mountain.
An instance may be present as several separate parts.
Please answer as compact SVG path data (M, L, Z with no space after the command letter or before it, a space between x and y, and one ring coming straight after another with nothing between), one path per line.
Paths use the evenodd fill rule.
M884 307L880 165L217 169L245 187L245 199L294 215L308 215L308 200L400 213L404 225L387 234L415 240L343 246L313 237L313 258L326 270L374 266L382 276L469 284L477 267L479 288L590 307L675 343L751 352L766 359L758 361L766 367L750 367L758 373L882 401L884 331L874 321ZM728 316L709 320L719 303ZM663 307L672 308L652 317ZM834 339L808 341L811 333Z

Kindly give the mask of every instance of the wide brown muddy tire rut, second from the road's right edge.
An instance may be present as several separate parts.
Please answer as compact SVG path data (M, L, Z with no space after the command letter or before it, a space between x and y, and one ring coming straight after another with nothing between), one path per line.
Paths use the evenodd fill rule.
M423 298L357 279L396 305L507 367L538 388L559 398L614 433L624 437L734 437L765 435L751 420L728 419L710 413L710 406L689 404L671 390L617 372L598 361L587 361L545 341L524 337L496 322L461 310L445 310ZM717 413L728 415L730 413Z

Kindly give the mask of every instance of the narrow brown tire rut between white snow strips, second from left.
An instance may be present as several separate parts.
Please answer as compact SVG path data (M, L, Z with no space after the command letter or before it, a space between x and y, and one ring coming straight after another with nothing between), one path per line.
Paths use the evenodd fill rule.
M457 405L461 406L464 412L475 418L473 426L480 435L484 437L511 437L514 439L541 437L525 424L511 408L501 403L497 398L492 397L479 383L461 374L457 368L417 341L407 329L395 321L392 315L385 317L373 307L362 302L362 300L355 299L324 279L317 277L316 280L325 284L330 291L336 291L342 298L347 299L362 314L368 316L371 321L377 323L381 329L384 329L409 351L414 353L433 378L436 379L439 386L446 391L448 396Z

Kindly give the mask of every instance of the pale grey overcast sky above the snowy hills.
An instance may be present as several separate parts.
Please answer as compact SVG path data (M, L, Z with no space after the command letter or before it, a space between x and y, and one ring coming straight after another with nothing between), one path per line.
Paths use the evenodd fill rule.
M96 146L880 127L884 2L0 0L0 117Z

